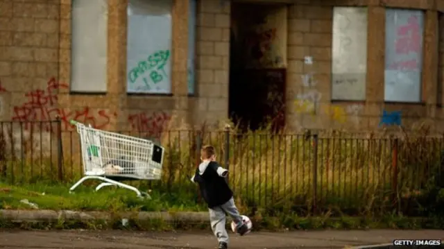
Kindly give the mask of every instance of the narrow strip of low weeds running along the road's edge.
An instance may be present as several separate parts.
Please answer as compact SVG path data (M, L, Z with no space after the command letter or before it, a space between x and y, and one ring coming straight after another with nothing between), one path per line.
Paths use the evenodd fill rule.
M327 216L298 217L280 216L257 218L252 217L253 231L288 231L288 230L368 230L368 229L443 229L444 220L437 218L411 218L404 216L384 217L351 217L332 218ZM121 218L116 215L112 220L64 221L56 222L12 222L0 218L0 229L88 229L88 230L139 230L139 231L172 231L172 230L210 230L210 222L185 223L181 221L165 222L160 219L139 221L129 219L123 226ZM228 224L227 224L227 228Z

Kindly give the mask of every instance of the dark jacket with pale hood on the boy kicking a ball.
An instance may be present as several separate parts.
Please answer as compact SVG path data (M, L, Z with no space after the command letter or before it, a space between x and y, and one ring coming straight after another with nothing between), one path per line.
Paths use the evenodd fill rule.
M221 166L217 162L203 162L196 169L193 178L199 184L200 194L210 208L223 205L233 197L225 178L218 173L219 168ZM221 170L223 169L219 169Z

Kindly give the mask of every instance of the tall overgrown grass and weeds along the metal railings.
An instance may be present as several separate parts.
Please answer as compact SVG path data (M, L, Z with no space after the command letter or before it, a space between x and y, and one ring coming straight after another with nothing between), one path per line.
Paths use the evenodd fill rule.
M144 137L143 133L137 136ZM196 142L196 138L201 141ZM72 182L80 178L81 171L77 170L80 157L78 148L66 141L70 139L63 144L62 179ZM281 213L341 217L384 216L394 212L407 216L443 216L440 207L444 201L441 172L444 142L443 137L431 136L426 128L412 135L403 130L393 134L338 131L296 134L277 133L271 128L247 132L234 128L225 133L205 127L167 131L160 141L166 148L162 180L130 182L142 190L153 189L150 202L141 203L133 198L133 193L122 189L103 189L92 194L87 187L96 184L94 181L76 191L74 196L82 196L81 199L67 196L68 184L57 183L59 174L55 165L58 164L54 158L58 157L53 156L33 157L30 153L17 159L6 155L8 171L3 179L10 183L14 180L13 184L21 182L28 191L42 193L44 188L51 193L52 197L17 195L40 201L42 207L116 211L202 209L204 205L198 201L196 185L189 181L189 175L198 162L197 146L212 144L218 148L221 164L230 170L229 182L241 212L262 216L260 222L276 223L266 217ZM65 149L69 146L71 149ZM66 169L68 166L71 168ZM38 183L26 186L33 182ZM51 189L53 184L57 187ZM5 197L4 204L0 204L3 208L25 208L17 203L19 198L0 195Z

